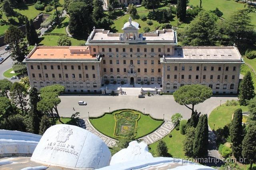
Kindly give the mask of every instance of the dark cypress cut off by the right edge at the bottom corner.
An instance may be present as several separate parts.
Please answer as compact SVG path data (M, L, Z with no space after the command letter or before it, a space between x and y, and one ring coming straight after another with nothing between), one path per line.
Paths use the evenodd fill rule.
M254 123L247 130L242 142L242 156L250 162L249 170L252 170L252 164L256 163L256 124Z

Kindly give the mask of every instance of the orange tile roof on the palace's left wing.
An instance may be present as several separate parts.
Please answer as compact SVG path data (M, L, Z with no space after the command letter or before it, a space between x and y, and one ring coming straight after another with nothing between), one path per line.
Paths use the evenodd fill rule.
M38 46L34 51L29 54L29 59L96 59L96 56L88 53L87 46L83 47L72 47L72 50L85 50L79 53L70 52L70 47L46 47Z

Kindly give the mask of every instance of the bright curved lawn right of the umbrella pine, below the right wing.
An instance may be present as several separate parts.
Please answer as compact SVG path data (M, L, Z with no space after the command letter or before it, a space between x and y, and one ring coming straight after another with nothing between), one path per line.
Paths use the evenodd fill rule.
M238 108L241 108L242 111L248 111L247 106L226 106L225 104L215 108L212 113L209 115L208 124L210 128L219 129L223 128L225 125L231 122L232 114ZM215 127L214 127L215 124Z

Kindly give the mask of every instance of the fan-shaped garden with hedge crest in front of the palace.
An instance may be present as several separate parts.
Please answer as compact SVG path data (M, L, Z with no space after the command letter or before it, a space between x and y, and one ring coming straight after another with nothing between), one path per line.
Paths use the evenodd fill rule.
M100 133L113 139L122 138L129 128L136 129L135 138L140 138L156 130L163 123L162 120L154 120L149 115L131 109L105 113L101 117L89 120Z

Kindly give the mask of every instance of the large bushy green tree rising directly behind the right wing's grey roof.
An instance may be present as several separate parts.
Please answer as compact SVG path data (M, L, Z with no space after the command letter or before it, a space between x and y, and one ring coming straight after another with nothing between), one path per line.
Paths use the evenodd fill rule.
M218 17L210 11L202 10L181 32L182 45L215 45Z

